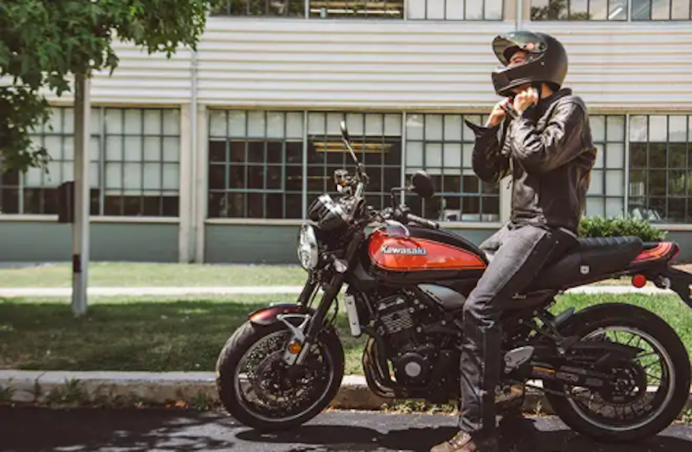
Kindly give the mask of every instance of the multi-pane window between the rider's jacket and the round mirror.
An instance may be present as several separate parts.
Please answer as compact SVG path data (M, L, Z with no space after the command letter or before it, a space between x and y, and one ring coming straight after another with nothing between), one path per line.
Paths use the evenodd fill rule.
M442 221L500 221L500 188L473 172L475 135L464 119L481 124L480 115L410 114L406 119L406 177L426 170L439 197L421 204L409 197L412 210Z

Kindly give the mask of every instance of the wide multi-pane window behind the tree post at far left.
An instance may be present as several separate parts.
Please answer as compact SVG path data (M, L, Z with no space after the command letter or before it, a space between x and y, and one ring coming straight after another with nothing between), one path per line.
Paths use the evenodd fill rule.
M179 215L178 109L91 110L91 215ZM46 147L46 170L0 176L2 213L56 214L57 186L74 180L74 111L53 109L51 127L33 139Z

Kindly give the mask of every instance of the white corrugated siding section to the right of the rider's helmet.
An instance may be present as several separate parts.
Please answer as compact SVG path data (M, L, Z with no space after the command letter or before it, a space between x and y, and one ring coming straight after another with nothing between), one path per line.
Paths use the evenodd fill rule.
M692 109L692 24L530 24L559 37L570 57L566 84L590 108Z

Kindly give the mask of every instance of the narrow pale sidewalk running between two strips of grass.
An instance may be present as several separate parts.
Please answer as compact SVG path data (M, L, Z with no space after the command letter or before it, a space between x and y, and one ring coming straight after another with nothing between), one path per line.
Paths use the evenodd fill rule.
M280 295L298 294L302 286L239 286L239 287L89 287L90 296L188 296L188 295ZM644 293L646 295L667 295L673 291L646 286L637 289L632 286L583 286L570 289L565 293ZM0 288L0 298L17 297L70 297L71 287L37 288L13 287Z

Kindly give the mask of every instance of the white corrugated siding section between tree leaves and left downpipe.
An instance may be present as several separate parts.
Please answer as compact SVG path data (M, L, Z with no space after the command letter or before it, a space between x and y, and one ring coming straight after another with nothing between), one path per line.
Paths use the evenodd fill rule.
M180 105L190 102L192 53L181 48L170 60L163 54L149 55L132 44L116 42L118 68L95 73L91 81L91 102ZM52 93L53 102L73 102L71 93L61 98Z

